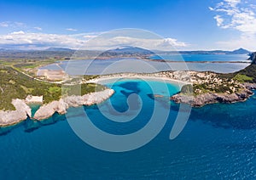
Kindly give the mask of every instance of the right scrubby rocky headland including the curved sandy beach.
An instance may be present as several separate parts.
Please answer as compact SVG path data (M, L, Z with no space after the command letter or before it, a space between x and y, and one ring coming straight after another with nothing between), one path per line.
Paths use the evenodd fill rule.
M211 71L162 71L105 75L90 80L90 82L101 83L110 79L142 78L177 83L181 87L181 91L170 97L170 100L176 103L190 104L193 107L201 107L205 104L241 102L252 96L252 90L256 89L256 83L240 82L241 77L248 78L239 73L225 75ZM159 94L153 94L153 97L166 98Z

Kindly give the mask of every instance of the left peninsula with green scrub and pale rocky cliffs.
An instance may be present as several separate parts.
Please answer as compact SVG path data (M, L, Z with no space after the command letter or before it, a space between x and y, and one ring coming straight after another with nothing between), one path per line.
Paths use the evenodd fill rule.
M0 66L0 127L24 121L43 120L68 107L99 104L114 93L95 83L68 84L40 82L9 66ZM29 104L42 104L32 116Z

